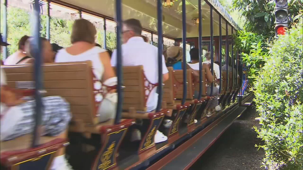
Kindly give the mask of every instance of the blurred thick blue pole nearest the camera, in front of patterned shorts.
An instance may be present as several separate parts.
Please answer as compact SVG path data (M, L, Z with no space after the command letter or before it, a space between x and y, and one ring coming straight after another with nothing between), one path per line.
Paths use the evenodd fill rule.
M34 79L35 79L35 129L34 129L34 138L32 141L32 147L37 147L39 145L40 139L40 129L42 124L42 96L41 91L43 89L43 72L42 72L42 58L41 58L41 39L40 39L40 6L39 0L35 0L34 4L34 19L32 21L32 34L33 41L31 42L31 51L32 55L35 58L34 62Z

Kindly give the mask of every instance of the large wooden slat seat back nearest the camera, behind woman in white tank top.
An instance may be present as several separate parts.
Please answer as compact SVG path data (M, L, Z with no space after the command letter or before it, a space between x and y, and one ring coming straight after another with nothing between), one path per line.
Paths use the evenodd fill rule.
M26 88L26 81L33 81L33 65L2 66L10 88ZM47 63L43 68L44 96L61 96L71 108L72 120L96 124L95 96L91 61L71 63ZM29 82L32 84L33 82ZM25 84L25 86L24 86ZM23 86L23 87L22 87Z

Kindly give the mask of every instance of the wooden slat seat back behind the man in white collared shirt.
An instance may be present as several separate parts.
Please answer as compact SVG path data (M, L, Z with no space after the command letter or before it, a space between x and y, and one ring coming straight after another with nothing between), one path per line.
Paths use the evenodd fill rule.
M123 66L123 93L124 111L134 108L137 111L146 111L147 96L145 95L145 76L143 66Z

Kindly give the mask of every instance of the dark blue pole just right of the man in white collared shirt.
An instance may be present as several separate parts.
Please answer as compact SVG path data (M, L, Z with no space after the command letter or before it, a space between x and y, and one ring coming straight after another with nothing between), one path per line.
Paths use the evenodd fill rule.
M162 32L162 1L157 0L157 18L158 18L158 104L156 112L161 110L162 103L162 50L163 50L163 32ZM162 38L161 38L162 37ZM162 44L162 46L161 46Z

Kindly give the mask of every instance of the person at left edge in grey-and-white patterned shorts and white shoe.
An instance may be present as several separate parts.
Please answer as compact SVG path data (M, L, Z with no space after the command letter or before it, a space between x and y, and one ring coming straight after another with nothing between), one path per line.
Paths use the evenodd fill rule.
M1 47L9 45L2 41L1 35L0 37ZM35 100L25 101L6 88L5 72L2 68L0 70L0 140L5 141L33 132L35 126ZM42 112L43 127L41 129L43 131L41 131L41 135L58 136L58 138L66 139L66 128L71 120L68 102L60 96L49 96L43 97L42 103L44 111ZM64 148L59 149L55 154L51 170L72 170L72 167L65 159Z

